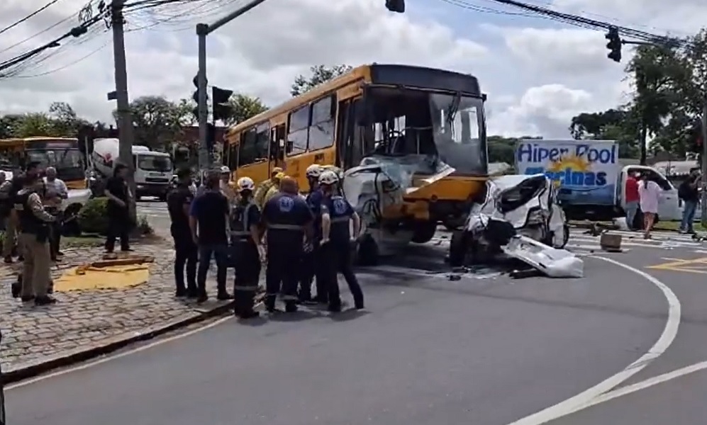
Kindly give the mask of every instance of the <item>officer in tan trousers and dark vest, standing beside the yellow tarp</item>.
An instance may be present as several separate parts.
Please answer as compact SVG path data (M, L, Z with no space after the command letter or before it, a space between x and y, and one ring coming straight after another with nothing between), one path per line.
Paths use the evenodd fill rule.
M51 280L49 239L55 217L44 210L38 193L43 188L39 163L28 166L25 182L15 197L15 210L19 219L18 242L25 257L22 269L23 302L34 300L35 305L57 302L48 295Z

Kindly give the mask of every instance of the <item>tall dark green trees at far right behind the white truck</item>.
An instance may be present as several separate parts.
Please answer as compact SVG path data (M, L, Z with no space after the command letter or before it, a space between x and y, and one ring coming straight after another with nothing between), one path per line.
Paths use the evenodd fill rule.
M684 157L696 151L707 94L707 29L688 45L638 46L625 69L630 101L575 116L569 125L572 137L618 140L622 154L642 163L648 153Z

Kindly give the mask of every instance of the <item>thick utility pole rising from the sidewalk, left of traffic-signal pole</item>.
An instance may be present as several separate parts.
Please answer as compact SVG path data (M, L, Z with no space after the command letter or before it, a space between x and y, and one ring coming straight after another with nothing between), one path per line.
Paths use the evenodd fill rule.
M128 70L126 66L126 42L123 17L123 6L126 0L113 0L111 3L111 27L113 29L113 61L116 68L116 103L118 104L118 139L120 162L128 166L128 187L133 196L130 197L130 217L135 222L135 166L133 166L133 115L130 113L128 98Z

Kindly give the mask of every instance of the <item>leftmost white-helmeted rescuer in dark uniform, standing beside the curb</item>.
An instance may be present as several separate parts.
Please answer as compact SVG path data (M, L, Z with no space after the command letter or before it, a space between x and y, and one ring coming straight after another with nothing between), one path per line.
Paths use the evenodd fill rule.
M255 182L241 177L238 186L238 203L231 212L230 238L235 266L233 296L234 312L241 319L257 317L253 311L255 293L260 280L260 264L265 260L265 247L260 234L260 210L253 201Z

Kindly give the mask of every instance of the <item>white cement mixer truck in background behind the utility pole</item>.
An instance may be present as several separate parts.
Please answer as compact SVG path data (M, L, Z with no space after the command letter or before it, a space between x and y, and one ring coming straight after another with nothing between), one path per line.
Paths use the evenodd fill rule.
M118 156L118 139L96 139L91 153L92 169L99 177L111 177L118 163ZM160 200L166 200L174 171L169 154L151 151L145 146L133 146L133 166L137 189L135 199L156 196Z

